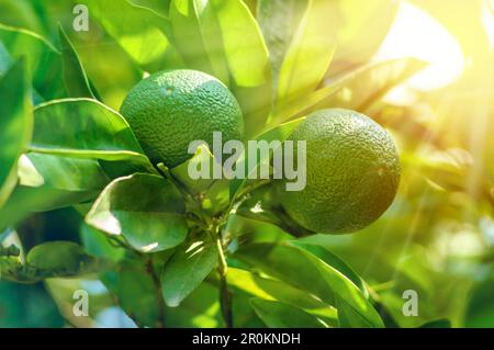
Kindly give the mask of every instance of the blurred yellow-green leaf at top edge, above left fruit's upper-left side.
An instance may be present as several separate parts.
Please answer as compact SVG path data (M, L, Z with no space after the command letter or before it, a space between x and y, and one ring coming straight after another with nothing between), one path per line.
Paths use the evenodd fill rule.
M90 0L88 4L91 16L143 69L157 71L177 64L164 34L169 25L165 16L126 0Z

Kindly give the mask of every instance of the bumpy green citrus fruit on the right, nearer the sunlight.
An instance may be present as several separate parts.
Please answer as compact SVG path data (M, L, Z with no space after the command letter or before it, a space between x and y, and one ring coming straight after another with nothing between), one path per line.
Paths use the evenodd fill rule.
M326 234L356 232L393 202L398 155L388 132L368 116L321 110L288 139L306 140L305 189L289 192L283 182L279 188L282 206L301 226Z

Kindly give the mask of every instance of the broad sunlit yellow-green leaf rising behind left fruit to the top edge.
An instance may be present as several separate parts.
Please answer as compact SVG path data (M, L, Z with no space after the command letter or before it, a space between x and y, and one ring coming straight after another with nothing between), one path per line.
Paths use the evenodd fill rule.
M175 0L170 27L188 67L227 84L244 112L247 135L259 132L271 106L271 67L247 5L240 0Z

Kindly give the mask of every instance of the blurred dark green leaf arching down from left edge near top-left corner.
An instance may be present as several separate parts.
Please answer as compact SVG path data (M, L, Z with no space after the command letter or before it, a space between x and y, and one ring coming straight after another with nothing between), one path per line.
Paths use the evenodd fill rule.
M29 30L1 23L0 42L14 59L25 57L33 87L45 100L66 95L60 69L61 56L52 43Z

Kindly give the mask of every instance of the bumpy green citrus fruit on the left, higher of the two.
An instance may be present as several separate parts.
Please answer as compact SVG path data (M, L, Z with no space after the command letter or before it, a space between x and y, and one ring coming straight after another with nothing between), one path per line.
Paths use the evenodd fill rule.
M216 78L188 69L154 74L138 82L121 108L144 151L155 165L173 168L192 157L189 144L213 132L223 142L242 139L244 117L235 97Z

